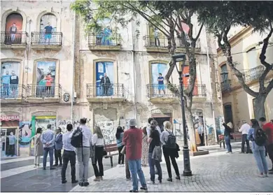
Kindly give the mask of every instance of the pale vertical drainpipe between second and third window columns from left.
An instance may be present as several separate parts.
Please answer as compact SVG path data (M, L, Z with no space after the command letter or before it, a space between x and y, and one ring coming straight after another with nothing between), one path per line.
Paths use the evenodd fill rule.
M72 68L72 85L71 85L71 123L73 122L73 101L74 101L74 68L75 68L75 36L76 36L76 13L73 11L73 29L72 29L72 52L73 52L73 68Z

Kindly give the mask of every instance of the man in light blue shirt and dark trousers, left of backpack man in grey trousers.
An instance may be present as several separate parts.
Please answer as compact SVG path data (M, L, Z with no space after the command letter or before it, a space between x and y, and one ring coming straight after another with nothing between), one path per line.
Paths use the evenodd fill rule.
M75 153L75 147L71 145L71 134L73 125L67 124L66 126L67 132L64 133L64 136L62 138L62 143L64 145L64 154L63 154L63 161L64 164L62 165L62 184L66 183L66 168L67 164L70 161L70 169L71 169L71 182L77 183L78 180L76 180L76 153Z

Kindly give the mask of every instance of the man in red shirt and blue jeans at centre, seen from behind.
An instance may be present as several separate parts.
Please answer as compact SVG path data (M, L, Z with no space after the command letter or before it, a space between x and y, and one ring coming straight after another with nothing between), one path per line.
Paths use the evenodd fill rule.
M142 152L142 130L136 128L137 122L135 119L129 121L130 129L124 132L123 145L126 147L126 159L129 164L132 175L133 189L130 192L139 192L139 180L141 188L147 190L144 173L141 169L141 152Z

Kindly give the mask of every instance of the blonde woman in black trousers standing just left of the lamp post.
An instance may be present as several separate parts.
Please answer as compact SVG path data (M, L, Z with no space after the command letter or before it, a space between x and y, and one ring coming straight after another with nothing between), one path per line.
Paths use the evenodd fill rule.
M172 130L172 124L169 121L165 121L163 123L164 125L164 131L161 135L161 142L163 143L163 155L166 161L167 171L169 178L167 179L168 182L172 182L172 168L171 163L169 159L172 161L172 166L174 166L174 171L176 172L176 180L180 180L180 174L179 174L179 166L177 166L176 163L176 157L178 157L178 151L176 148L168 147L167 142L169 139L169 136L173 136L173 130Z

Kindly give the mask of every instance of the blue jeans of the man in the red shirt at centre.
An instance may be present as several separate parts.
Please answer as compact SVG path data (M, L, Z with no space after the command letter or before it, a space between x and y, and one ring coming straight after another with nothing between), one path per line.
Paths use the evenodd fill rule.
M128 160L128 164L133 182L133 190L139 190L139 181L142 187L147 187L144 173L141 169L141 159ZM137 180L137 175L139 175L139 181Z

